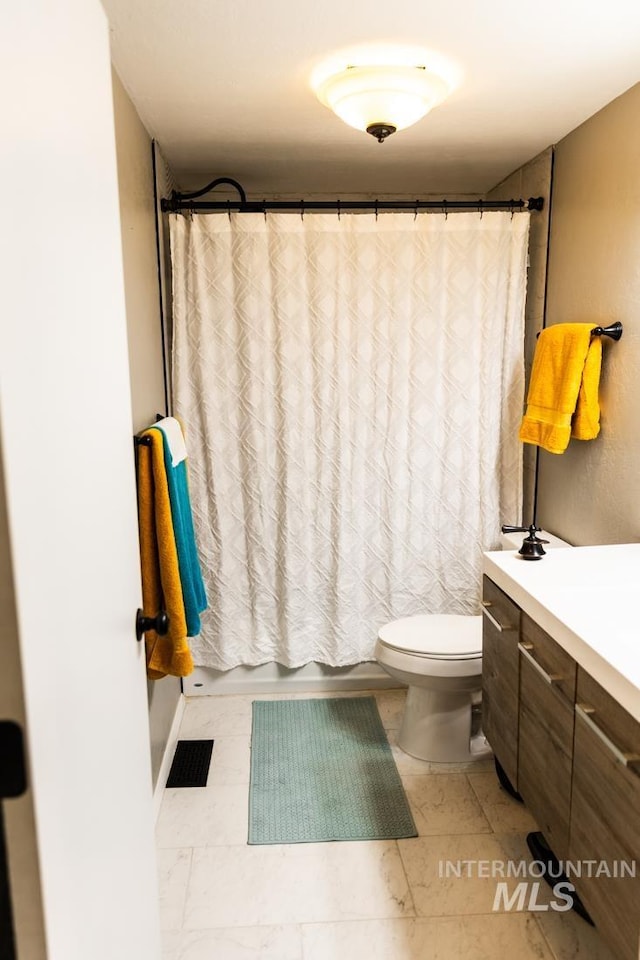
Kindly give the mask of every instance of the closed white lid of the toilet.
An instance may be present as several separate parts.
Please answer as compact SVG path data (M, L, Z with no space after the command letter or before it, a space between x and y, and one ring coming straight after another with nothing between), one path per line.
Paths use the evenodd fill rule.
M388 647L438 660L471 660L482 656L482 617L423 614L403 617L380 628Z

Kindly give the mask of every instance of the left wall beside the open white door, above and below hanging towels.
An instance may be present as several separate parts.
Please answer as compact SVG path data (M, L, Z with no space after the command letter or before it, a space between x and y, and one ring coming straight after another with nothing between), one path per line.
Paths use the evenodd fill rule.
M120 219L124 260L133 432L166 411L156 252L151 140L117 74L113 74ZM166 177L166 172L164 172ZM157 780L180 698L180 681L149 683L151 766Z

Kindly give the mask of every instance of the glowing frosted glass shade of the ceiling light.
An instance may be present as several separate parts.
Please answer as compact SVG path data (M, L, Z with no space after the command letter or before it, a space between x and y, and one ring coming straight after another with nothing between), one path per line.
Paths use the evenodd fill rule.
M450 92L446 80L422 66L349 66L316 86L318 99L357 130L410 127Z

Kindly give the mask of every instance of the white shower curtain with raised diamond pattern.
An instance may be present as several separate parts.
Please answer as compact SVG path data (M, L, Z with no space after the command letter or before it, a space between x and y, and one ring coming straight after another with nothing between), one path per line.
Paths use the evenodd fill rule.
M520 516L528 224L171 216L197 664L354 664L389 620L477 613Z

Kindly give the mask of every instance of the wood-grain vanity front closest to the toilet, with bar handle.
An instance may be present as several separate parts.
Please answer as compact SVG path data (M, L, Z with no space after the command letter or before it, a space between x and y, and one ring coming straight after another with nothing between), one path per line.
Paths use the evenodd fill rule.
M488 577L482 602L482 729L517 789L520 608Z

